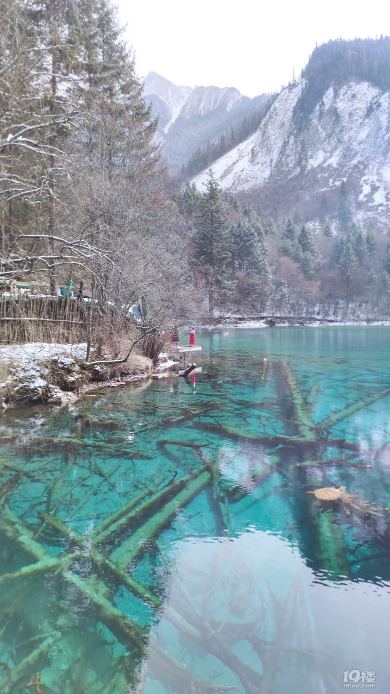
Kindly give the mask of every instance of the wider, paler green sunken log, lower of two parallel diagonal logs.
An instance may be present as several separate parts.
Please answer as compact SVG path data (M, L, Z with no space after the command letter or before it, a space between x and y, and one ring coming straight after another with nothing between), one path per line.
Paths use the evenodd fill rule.
M204 471L203 466L198 470L202 468L203 471L197 477L188 482L184 489L179 491L160 511L149 518L144 525L139 527L134 534L112 552L111 561L114 561L121 568L126 568L137 557L144 545L161 532L178 509L188 504L210 482L210 473Z

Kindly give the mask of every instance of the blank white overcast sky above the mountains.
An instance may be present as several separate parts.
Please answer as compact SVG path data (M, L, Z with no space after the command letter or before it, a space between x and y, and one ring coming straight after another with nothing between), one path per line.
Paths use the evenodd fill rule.
M255 96L296 76L316 42L390 35L389 0L115 0L137 71Z

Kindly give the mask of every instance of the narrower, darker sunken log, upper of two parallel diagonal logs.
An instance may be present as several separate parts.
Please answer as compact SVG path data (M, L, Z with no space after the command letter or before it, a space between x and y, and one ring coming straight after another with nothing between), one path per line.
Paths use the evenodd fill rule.
M173 480L173 482L171 482L171 484L167 484L167 486L164 486L158 492L156 492L155 494L145 499L136 506L133 506L131 501L128 502L127 505L125 505L117 511L117 520L115 520L113 523L110 523L110 525L106 526L104 530L99 530L99 534L96 534L94 536L94 541L99 543L104 542L108 539L110 534L119 530L119 528L123 525L128 525L129 523L131 523L131 521L134 521L135 519L139 520L139 518L151 511L153 507L160 505L169 496L177 493L188 482L194 480L194 477L198 477L198 475L200 475L204 470L205 466L201 465L194 471L188 473L187 475L184 475L183 477L177 477L176 480Z

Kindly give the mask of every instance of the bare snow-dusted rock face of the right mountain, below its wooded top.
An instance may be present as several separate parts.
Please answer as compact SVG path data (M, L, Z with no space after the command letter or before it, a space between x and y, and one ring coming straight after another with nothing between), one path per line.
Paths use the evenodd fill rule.
M285 209L315 210L324 193L337 205L344 180L354 216L388 224L390 92L366 81L330 86L303 119L303 90L305 79L282 90L260 128L212 164L221 187L247 199L255 193L264 207L267 198L282 207L287 199ZM203 171L193 183L203 189L205 180Z

